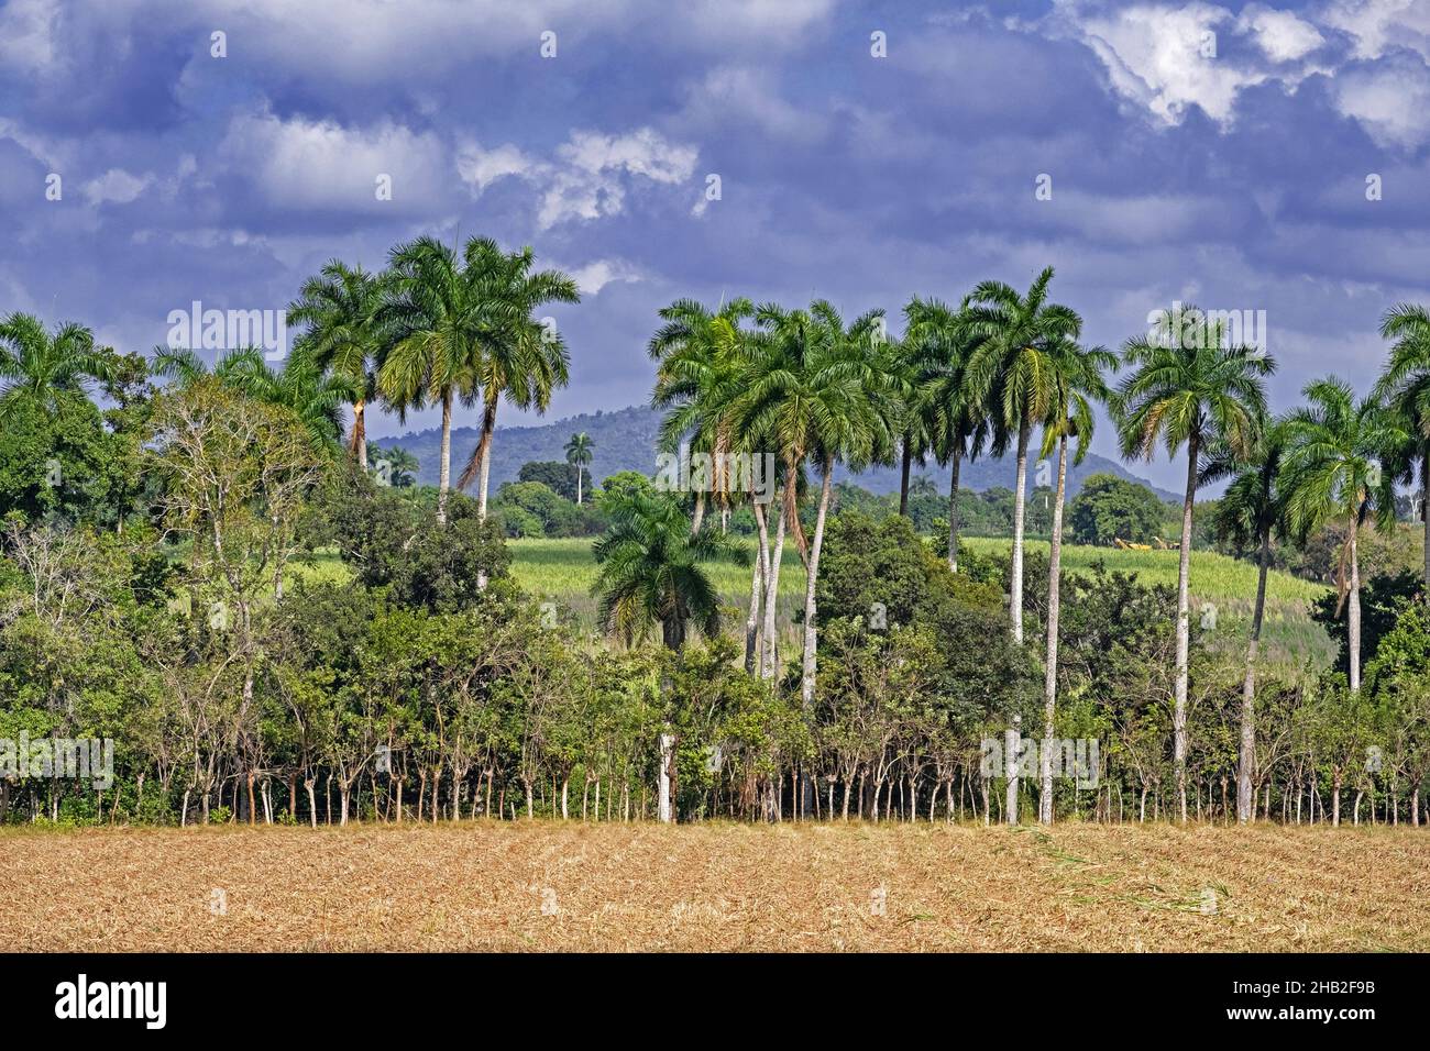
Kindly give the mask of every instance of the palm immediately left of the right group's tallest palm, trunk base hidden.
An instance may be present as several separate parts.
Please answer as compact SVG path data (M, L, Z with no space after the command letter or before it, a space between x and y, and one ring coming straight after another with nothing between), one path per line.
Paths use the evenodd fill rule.
M988 439L988 415L968 385L972 347L961 312L938 299L914 297L904 307L904 342L925 346L927 378L915 398L925 412L934 455L950 466L948 568L958 572L958 475L964 456L975 458Z

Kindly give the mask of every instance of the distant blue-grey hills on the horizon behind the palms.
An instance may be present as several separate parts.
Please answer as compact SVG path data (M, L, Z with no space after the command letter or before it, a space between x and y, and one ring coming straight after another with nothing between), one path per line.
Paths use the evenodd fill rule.
M599 482L618 470L638 470L642 475L652 475L656 470L655 442L661 429L661 413L655 409L632 405L613 412L598 410L568 416L553 423L528 428L506 428L498 425L492 449L492 478L490 486L495 493L502 482L515 482L516 472L528 460L565 460L566 442L578 430L585 430L595 442L591 475ZM452 430L452 476L453 479L466 466L468 458L476 448L476 428L453 428ZM438 459L440 455L442 432L436 428L430 430L409 432L400 438L380 438L378 445L383 448L402 446L422 465L418 480L436 485ZM1030 486L1034 483L1034 468L1028 468ZM948 485L948 473L937 463L930 462L927 468L914 465L912 475L928 475L941 489ZM891 493L898 492L898 468L871 468L852 480L869 492ZM1084 479L1091 475L1117 475L1131 482L1138 482L1150 488L1163 500L1180 502L1177 493L1158 489L1138 478L1121 463L1105 456L1088 453L1081 465L1068 465L1068 495L1077 493L1083 488ZM841 472L838 478L849 478ZM1012 488L1014 462L1011 456L1001 460L978 459L964 463L960 483L975 492L994 486Z

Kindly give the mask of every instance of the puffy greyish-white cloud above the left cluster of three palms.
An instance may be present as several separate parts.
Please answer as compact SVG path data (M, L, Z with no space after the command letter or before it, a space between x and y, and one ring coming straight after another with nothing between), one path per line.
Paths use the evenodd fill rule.
M252 173L263 194L286 207L395 209L430 214L448 190L450 170L432 133L385 122L347 129L329 120L272 113L236 117L220 144L230 164ZM378 177L390 176L392 200L378 199Z

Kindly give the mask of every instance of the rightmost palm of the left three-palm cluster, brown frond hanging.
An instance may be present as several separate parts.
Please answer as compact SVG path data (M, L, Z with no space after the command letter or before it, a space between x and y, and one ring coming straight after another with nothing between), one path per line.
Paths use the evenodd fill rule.
M492 469L496 408L505 398L518 409L546 412L552 390L569 382L566 340L533 315L546 303L579 303L576 282L561 270L538 270L531 247L505 253L490 237L466 243L466 273L480 325L475 379L482 388L482 438L458 486L480 478L478 516L486 520L486 483Z

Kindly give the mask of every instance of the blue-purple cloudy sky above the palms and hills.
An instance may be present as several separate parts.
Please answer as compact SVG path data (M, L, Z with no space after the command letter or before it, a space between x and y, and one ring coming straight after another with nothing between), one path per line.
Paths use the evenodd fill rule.
M1430 300L1427 147L1430 0L7 0L0 312L147 352L480 233L582 289L555 419L646 402L676 297L897 332L1051 265L1114 349L1250 312L1280 409L1369 389L1381 315Z

